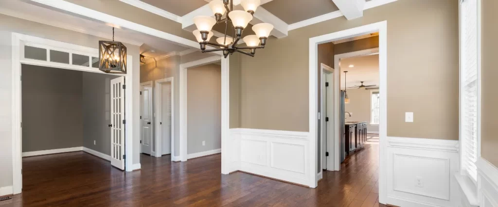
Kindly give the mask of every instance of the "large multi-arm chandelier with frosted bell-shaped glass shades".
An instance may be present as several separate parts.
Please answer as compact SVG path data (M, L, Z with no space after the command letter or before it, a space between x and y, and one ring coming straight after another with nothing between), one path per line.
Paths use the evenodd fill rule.
M255 35L248 35L243 38L246 46L239 46L238 42L241 40L242 31L247 27L252 20L252 16L256 8L261 4L260 0L242 0L241 5L245 11L234 10L234 0L212 0L209 2L209 7L213 10L215 18L211 16L196 16L194 17L194 24L197 30L194 30L194 36L201 46L203 53L223 51L223 55L227 58L228 55L234 52L254 57L256 49L264 48L266 39L270 35L273 25L268 23L259 23L252 26ZM223 15L225 18L222 19ZM232 38L227 36L229 22L232 22ZM216 42L210 42L209 39L213 36L211 29L215 24L225 23L225 36L216 39ZM235 35L234 35L235 34ZM206 45L218 46L220 48L206 50ZM247 50L248 51L244 51Z

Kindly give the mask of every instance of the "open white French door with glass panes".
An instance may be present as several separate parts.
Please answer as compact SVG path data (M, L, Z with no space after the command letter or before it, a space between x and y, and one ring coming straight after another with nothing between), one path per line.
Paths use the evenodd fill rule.
M124 170L124 77L111 80L111 164Z

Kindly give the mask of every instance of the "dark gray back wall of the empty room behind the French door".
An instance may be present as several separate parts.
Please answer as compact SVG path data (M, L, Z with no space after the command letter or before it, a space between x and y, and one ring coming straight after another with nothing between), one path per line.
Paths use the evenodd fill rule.
M22 65L22 151L83 145L82 71Z

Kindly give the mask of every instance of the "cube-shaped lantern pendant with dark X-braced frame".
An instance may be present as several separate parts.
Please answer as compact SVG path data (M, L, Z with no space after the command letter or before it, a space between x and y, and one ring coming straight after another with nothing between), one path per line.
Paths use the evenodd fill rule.
M126 74L126 47L121 42L99 41L99 69L106 73Z

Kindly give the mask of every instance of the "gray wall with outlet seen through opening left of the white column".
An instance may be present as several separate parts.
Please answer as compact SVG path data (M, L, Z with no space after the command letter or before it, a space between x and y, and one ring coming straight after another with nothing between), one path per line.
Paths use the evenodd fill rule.
M187 154L221 148L221 66L187 69ZM202 145L206 141L206 145Z

